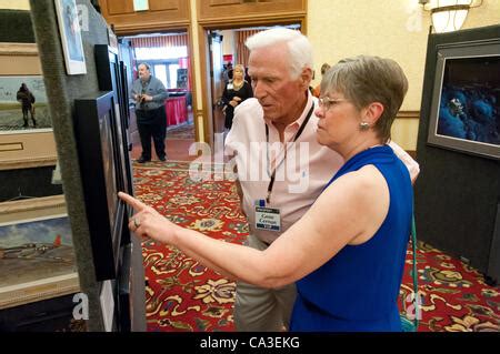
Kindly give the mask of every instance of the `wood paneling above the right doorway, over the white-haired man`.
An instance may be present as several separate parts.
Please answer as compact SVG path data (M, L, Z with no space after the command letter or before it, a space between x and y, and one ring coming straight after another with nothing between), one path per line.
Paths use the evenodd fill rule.
M307 0L198 0L198 21L208 23L226 19L227 22L239 22L250 18L286 18L304 16Z

